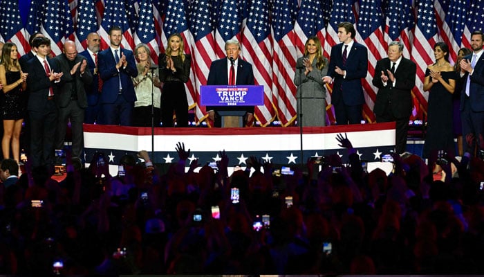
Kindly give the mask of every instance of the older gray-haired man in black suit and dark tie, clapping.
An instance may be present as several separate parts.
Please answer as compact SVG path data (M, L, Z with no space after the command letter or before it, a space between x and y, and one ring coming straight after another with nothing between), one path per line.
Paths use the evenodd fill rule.
M402 42L391 42L388 57L376 63L373 85L378 87L373 112L377 122L395 121L395 152L407 147L407 132L412 109L411 89L415 86L417 66L402 56Z

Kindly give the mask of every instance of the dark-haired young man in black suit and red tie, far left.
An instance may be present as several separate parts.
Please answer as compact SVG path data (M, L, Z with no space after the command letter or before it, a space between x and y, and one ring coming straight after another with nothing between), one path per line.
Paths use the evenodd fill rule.
M32 46L37 52L26 63L28 73L27 110L30 117L30 157L32 167L48 166L53 169L54 139L57 125L57 107L54 98L62 77L55 60L48 57L50 39L36 37Z

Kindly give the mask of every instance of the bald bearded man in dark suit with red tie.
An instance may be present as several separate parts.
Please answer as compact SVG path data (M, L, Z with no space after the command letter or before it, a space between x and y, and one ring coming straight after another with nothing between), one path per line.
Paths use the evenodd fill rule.
M100 122L101 102L99 100L102 85L100 85L99 70L97 69L97 54L99 53L101 39L97 33L87 35L87 49L79 53L87 60L87 66L93 82L86 86L87 107L84 114L84 123Z

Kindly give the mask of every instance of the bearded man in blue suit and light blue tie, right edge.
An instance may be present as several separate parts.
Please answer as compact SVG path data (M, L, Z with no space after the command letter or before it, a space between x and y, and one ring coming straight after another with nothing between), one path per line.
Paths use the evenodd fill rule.
M463 78L463 91L460 93L460 117L462 132L472 134L474 140L467 144L465 151L474 155L477 145L484 137L484 56L483 33L476 30L471 35L473 53L460 61L460 77Z

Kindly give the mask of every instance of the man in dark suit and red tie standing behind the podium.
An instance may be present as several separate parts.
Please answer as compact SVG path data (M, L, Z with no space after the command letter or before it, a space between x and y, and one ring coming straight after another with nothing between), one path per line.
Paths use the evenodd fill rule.
M241 44L234 39L225 42L225 53L227 57L216 60L210 65L210 72L208 73L207 85L241 85L254 84L254 72L252 71L252 64L239 59L241 53ZM217 107L207 106L208 117L214 122L214 127L222 127L221 116L218 115ZM254 123L254 107L223 107L225 111L234 109L245 109L245 126L250 127ZM231 125L229 123L229 125ZM225 124L227 126L227 124ZM234 125L230 127L235 127Z

